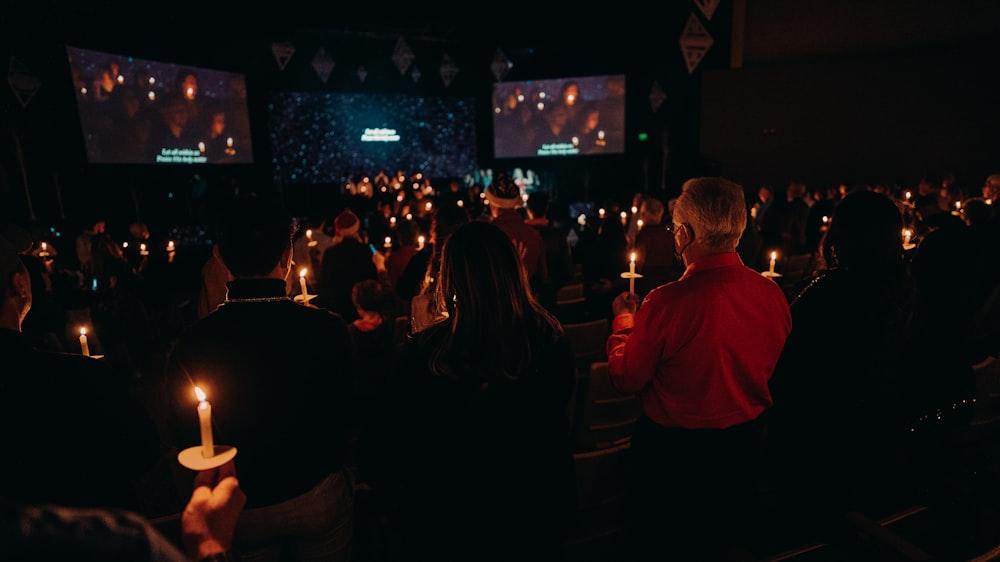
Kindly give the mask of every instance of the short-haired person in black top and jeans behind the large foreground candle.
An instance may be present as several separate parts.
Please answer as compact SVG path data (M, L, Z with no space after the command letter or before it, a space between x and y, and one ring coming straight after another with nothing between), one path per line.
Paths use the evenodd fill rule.
M342 316L288 298L292 224L280 201L262 195L237 196L224 209L218 251L233 280L225 302L172 350L171 443L200 443L200 388L212 407L213 441L236 448L247 495L234 552L346 561L356 350Z

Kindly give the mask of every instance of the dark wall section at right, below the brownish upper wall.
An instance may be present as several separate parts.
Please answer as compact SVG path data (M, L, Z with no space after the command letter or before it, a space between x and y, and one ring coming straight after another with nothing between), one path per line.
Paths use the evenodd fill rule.
M1000 51L864 56L703 75L701 151L748 186L915 185L1000 169Z

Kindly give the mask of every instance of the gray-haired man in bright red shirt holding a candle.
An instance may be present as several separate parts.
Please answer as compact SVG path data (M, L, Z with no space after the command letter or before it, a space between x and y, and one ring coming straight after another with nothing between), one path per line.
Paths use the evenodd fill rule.
M672 217L684 274L641 307L628 292L612 302L608 371L642 404L629 479L640 558L724 560L753 539L768 380L791 315L781 288L736 252L747 214L736 183L688 180Z

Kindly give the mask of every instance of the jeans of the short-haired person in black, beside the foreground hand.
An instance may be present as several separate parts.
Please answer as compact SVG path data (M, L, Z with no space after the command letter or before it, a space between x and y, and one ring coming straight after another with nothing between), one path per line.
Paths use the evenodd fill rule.
M301 496L244 510L233 550L242 562L348 562L353 533L354 483L341 470Z

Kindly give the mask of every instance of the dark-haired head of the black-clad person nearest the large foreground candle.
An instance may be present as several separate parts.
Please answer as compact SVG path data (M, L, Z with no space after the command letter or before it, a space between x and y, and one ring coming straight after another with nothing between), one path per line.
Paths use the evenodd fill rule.
M294 223L274 196L239 195L219 225L219 257L234 277L264 277L286 259Z

